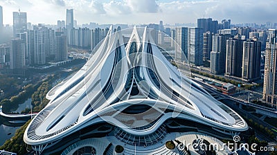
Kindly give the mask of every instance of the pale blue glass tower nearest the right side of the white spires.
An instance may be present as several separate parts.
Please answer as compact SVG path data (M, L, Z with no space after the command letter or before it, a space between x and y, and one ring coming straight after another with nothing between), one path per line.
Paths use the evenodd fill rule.
M175 37L175 59L183 62L188 59L188 28L176 28Z

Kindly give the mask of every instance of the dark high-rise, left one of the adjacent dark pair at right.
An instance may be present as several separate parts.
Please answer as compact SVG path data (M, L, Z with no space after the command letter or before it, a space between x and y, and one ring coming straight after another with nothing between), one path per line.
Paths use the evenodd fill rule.
M226 76L242 77L242 45L241 39L228 39L226 41Z

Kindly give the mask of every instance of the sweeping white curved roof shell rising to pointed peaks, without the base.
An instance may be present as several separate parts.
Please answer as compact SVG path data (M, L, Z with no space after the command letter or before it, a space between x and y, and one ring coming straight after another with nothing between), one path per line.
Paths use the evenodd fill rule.
M111 32L78 73L48 92L48 105L28 125L24 141L41 151L99 122L130 135L150 135L163 122L179 118L222 132L240 132L247 123L181 75L166 60L145 28L134 27L125 46L120 30Z

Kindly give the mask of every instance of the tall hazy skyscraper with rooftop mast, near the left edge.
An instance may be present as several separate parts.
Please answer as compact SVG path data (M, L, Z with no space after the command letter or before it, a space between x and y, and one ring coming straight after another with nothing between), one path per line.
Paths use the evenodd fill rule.
M24 33L27 30L27 13L12 12L13 14L13 36L17 37L17 33Z

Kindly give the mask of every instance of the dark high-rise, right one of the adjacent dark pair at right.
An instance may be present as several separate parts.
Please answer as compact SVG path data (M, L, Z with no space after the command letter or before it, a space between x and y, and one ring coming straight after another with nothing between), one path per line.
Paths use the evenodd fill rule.
M260 79L261 42L247 40L243 42L242 79L253 81Z

